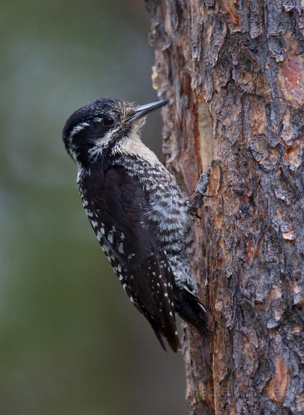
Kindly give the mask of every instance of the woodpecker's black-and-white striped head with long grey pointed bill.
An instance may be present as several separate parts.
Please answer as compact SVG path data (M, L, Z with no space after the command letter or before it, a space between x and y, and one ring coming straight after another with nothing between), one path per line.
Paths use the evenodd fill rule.
M66 151L82 167L94 163L99 156L111 156L120 151L124 141L139 139L146 114L167 102L139 106L115 98L97 98L66 121L62 131Z

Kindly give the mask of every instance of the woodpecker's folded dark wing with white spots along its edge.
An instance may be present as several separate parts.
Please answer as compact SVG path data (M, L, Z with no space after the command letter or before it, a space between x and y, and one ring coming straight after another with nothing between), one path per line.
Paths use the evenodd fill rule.
M174 279L156 225L146 214L148 194L137 176L129 176L120 166L91 172L84 187L93 195L89 219L124 290L151 324L163 349L166 338L171 349L178 351Z

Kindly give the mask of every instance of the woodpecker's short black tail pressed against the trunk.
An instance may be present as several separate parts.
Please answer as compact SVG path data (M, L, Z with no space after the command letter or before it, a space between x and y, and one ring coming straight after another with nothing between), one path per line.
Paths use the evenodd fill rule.
M209 334L207 312L196 293L186 285L174 288L174 308L182 320L196 327L207 339Z

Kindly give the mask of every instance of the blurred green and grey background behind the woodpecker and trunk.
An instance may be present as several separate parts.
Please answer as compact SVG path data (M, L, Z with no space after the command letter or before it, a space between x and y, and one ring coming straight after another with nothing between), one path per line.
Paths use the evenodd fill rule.
M61 142L75 109L146 104L143 0L1 1L0 414L185 414L164 353L91 230ZM144 141L160 154L160 114Z

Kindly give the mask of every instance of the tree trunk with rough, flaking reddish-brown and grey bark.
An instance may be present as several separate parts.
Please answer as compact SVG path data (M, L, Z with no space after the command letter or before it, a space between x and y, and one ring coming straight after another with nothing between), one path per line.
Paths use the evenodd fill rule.
M167 166L191 194L213 158L193 259L212 335L184 328L189 414L303 414L303 1L146 5Z

